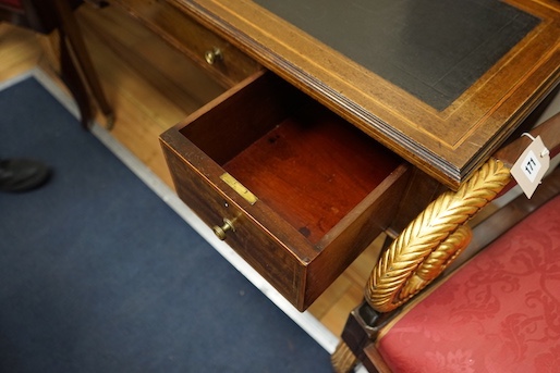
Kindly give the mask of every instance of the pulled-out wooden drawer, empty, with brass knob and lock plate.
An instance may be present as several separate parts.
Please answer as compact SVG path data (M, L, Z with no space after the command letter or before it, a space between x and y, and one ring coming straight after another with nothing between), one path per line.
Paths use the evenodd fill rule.
M269 72L163 133L176 192L299 310L394 216L404 162Z

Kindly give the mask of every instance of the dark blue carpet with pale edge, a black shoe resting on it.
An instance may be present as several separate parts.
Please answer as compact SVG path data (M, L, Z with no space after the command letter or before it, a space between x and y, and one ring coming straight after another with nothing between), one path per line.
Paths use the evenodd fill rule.
M328 353L34 78L0 92L0 372L330 372Z

